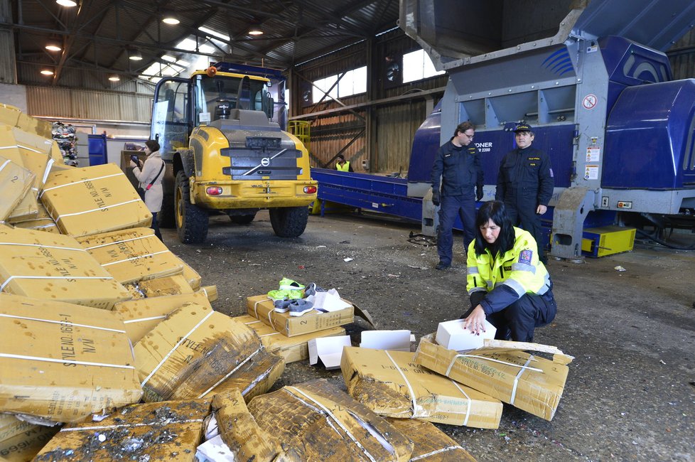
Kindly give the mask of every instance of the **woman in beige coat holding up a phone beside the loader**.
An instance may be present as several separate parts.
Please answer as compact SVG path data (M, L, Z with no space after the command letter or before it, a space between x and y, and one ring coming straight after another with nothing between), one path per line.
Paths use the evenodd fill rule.
M132 159L130 166L133 168L135 178L140 182L140 188L145 191L143 198L148 210L152 213L152 226L154 235L162 240L159 225L157 223L157 213L162 208L162 178L164 178L164 161L159 155L159 143L155 139L145 141L145 153L147 159L142 166L135 163Z

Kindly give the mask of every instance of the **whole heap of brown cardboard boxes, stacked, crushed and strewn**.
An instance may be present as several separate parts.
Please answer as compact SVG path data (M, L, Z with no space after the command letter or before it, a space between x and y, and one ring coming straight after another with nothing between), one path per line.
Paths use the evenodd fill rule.
M514 348L346 346L347 393L269 392L353 306L248 315L158 240L114 164L65 166L50 124L0 104L0 458L467 461L430 422L495 429L502 402L551 419L567 363ZM348 343L349 344L349 343Z

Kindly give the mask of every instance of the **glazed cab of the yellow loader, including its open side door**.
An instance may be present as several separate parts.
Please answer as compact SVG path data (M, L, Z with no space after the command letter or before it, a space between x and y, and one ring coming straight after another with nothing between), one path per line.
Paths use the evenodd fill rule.
M205 71L190 79L168 77L157 83L152 107L151 138L157 139L164 159L188 147L193 128L217 119L233 117L235 109L262 111L274 115L274 100L264 77Z

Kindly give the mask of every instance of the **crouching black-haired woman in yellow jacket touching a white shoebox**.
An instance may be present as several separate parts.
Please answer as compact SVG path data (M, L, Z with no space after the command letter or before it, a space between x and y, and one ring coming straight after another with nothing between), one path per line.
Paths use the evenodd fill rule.
M479 334L485 319L495 338L532 342L534 329L553 321L553 283L539 261L533 236L512 226L505 204L484 203L475 217L475 240L468 247L466 289L470 309L463 328Z

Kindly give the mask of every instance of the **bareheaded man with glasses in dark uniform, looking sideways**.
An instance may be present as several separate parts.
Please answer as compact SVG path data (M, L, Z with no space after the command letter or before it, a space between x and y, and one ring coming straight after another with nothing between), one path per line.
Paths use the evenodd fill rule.
M463 223L463 245L475 237L475 200L483 198L483 167L473 144L475 127L458 124L449 141L440 146L432 166L432 203L439 208L436 269L451 267L453 260L453 223L458 215ZM441 178L441 191L440 191Z

